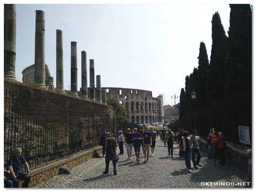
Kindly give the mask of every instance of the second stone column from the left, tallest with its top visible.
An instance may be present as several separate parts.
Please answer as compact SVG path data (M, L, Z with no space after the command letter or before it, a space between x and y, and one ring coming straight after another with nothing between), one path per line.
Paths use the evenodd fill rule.
M36 10L34 82L45 88L45 12Z

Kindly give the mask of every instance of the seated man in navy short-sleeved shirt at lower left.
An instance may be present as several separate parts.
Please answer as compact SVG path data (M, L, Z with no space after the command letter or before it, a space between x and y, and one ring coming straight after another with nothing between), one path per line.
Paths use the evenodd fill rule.
M12 181L14 187L19 187L20 180L24 180L22 187L28 187L30 182L29 166L25 158L21 155L22 149L16 148L14 155L12 155L7 163L8 170L10 171L9 180ZM27 173L21 173L20 168L22 163L25 165Z

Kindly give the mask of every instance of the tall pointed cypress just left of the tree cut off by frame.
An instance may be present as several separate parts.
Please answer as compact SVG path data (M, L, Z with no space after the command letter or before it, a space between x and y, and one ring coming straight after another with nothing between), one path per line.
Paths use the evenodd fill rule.
M211 27L211 60L208 74L207 92L208 101L221 99L224 97L226 73L225 57L227 54L228 38L220 20L220 15L215 12L212 17Z

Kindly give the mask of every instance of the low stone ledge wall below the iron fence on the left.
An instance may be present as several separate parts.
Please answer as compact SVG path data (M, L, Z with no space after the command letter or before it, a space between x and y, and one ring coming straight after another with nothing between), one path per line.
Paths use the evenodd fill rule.
M29 187L34 187L39 183L42 183L52 177L57 176L60 166L65 166L72 169L75 166L80 165L85 161L88 161L89 159L97 157L99 154L102 154L101 146L89 151L76 154L70 158L54 161L52 163L49 163L48 165L35 168L31 170L31 180Z

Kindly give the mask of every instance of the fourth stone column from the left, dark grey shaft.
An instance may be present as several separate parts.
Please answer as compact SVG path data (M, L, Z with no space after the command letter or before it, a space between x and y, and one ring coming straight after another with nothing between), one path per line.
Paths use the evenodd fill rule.
M71 41L71 94L78 97L77 94L77 43Z

